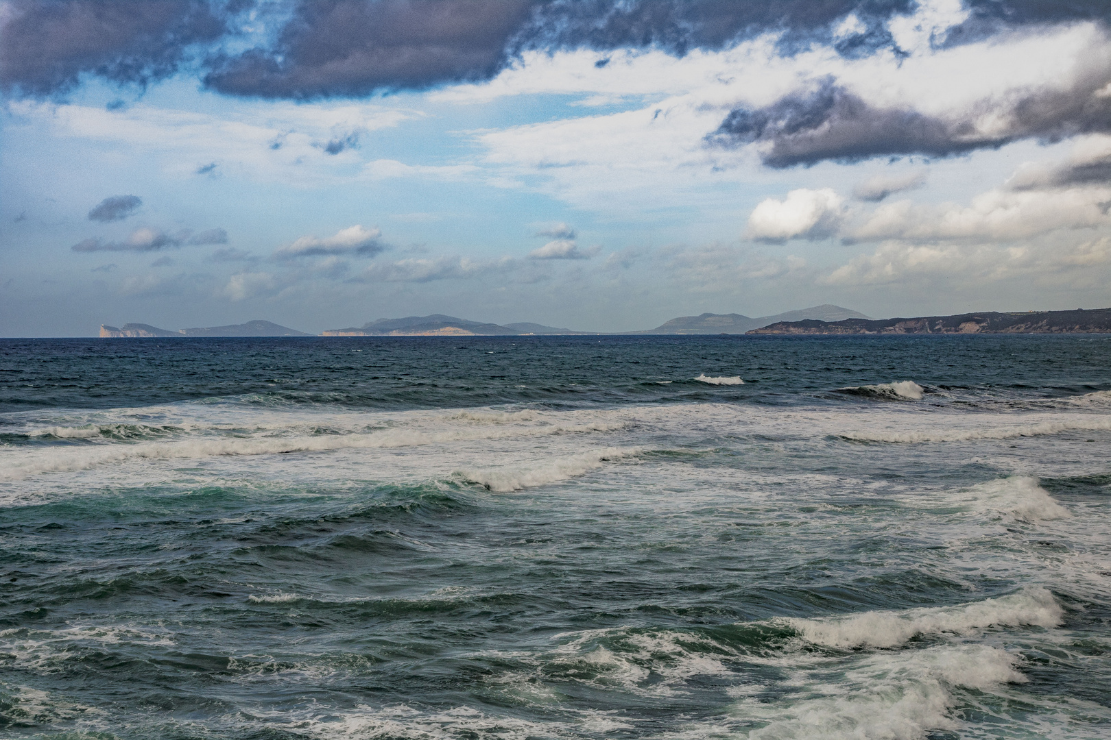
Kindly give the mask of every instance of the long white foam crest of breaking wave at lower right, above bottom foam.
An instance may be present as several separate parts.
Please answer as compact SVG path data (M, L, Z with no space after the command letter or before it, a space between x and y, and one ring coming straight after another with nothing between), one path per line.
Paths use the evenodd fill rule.
M831 648L893 648L921 635L965 635L984 627L1055 627L1063 612L1047 589L952 607L865 611L850 617L785 620L802 639Z

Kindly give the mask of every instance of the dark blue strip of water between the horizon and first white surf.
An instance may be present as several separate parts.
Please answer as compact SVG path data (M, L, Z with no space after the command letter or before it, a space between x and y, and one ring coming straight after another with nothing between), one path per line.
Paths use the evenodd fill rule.
M1038 397L1111 388L1109 347L1053 335L0 339L0 409L246 394L382 409L574 407L717 398L655 382L722 373L755 386L745 401L892 377Z

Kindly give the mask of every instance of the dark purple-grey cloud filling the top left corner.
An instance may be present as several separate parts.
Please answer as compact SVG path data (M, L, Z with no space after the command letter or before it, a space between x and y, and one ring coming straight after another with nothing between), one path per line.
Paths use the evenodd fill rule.
M66 92L82 73L146 85L227 32L201 0L14 0L7 10L0 89L30 97Z

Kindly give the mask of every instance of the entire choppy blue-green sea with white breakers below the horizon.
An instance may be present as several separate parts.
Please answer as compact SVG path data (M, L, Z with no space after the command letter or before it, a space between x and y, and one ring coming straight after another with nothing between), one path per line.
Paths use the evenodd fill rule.
M0 736L1111 738L1111 337L0 339Z

